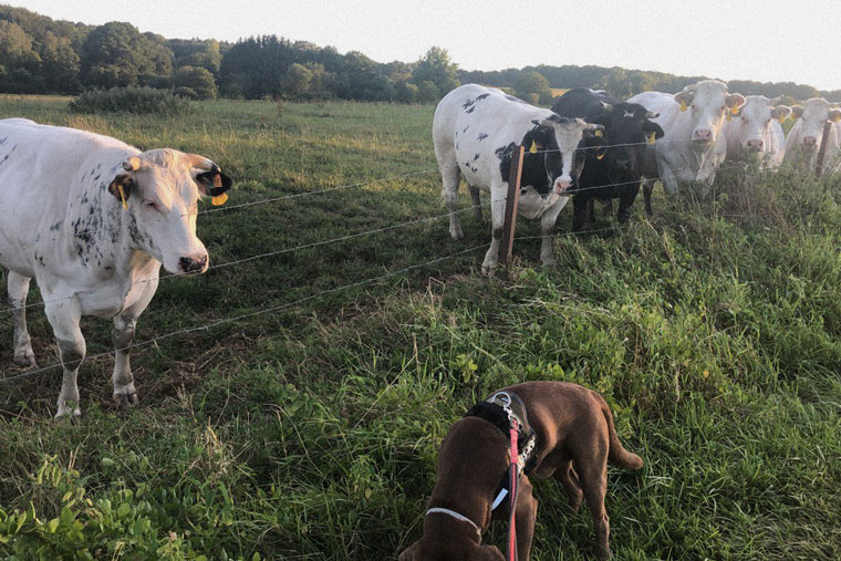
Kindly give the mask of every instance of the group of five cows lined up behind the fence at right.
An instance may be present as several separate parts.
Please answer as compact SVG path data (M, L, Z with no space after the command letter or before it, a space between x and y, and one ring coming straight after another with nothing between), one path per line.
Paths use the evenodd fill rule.
M782 123L797 122L788 134ZM662 181L667 195L687 187L709 194L721 163L759 156L760 165L783 162L814 169L824 125L831 128L821 173L839 172L841 108L823 98L788 107L761 95L730 93L727 84L704 80L677 94L644 92L619 102L603 91L574 89L542 110L500 90L467 84L448 93L435 111L433 142L450 212L450 235L463 237L455 212L459 177L475 207L479 190L490 193L492 242L482 271L497 266L502 238L511 154L523 146L519 212L540 218L541 261L552 261L551 235L560 211L573 198L573 231L593 220L593 200L612 208L620 221L643 187L645 208Z

